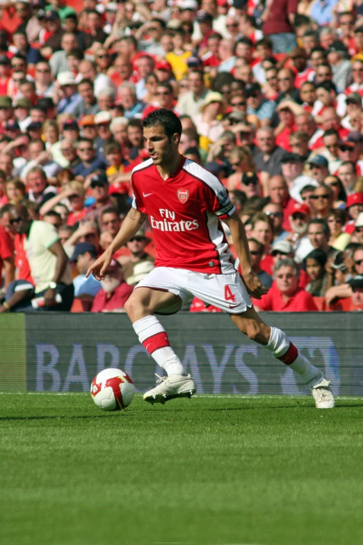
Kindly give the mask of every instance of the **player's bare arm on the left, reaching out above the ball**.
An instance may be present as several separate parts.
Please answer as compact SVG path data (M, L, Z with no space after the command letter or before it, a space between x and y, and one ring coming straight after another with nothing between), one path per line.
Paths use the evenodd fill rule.
M88 276L90 276L92 273L97 280L104 279L104 271L106 271L106 268L110 264L115 251L118 251L118 249L121 248L121 246L124 246L129 239L134 237L136 232L140 229L140 226L143 225L146 217L146 214L139 212L134 207L129 210L124 221L122 221L122 226L120 227L118 234L115 236L110 246L108 246L101 257L98 258L88 269L86 278L88 278Z

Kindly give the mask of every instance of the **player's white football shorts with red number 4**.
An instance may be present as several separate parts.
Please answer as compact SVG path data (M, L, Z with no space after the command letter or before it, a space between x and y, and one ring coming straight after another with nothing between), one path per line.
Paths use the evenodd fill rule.
M229 314L240 314L252 306L252 302L239 273L204 274L188 269L155 267L136 285L170 292L179 297L177 303L158 309L157 314L175 314L192 297L221 308Z

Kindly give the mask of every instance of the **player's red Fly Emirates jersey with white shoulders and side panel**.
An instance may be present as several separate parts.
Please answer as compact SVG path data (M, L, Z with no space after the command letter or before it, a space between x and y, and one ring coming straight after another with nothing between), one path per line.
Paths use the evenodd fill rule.
M149 217L156 244L155 267L207 274L234 271L221 219L235 208L218 178L182 157L163 180L152 159L131 175L133 207Z

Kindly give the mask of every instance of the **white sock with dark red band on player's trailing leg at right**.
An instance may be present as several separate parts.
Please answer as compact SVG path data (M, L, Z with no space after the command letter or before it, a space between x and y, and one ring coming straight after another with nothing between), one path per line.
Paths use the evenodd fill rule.
M275 358L289 365L291 369L300 374L300 377L309 386L315 386L321 382L323 374L312 363L302 356L289 337L281 329L271 327L271 336L266 348L273 353Z

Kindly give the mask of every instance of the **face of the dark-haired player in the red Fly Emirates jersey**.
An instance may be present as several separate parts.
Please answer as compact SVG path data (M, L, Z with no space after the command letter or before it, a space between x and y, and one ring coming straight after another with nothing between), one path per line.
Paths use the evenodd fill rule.
M144 143L154 165L168 164L177 153L179 135L173 134L170 141L163 126L154 125L144 129Z

